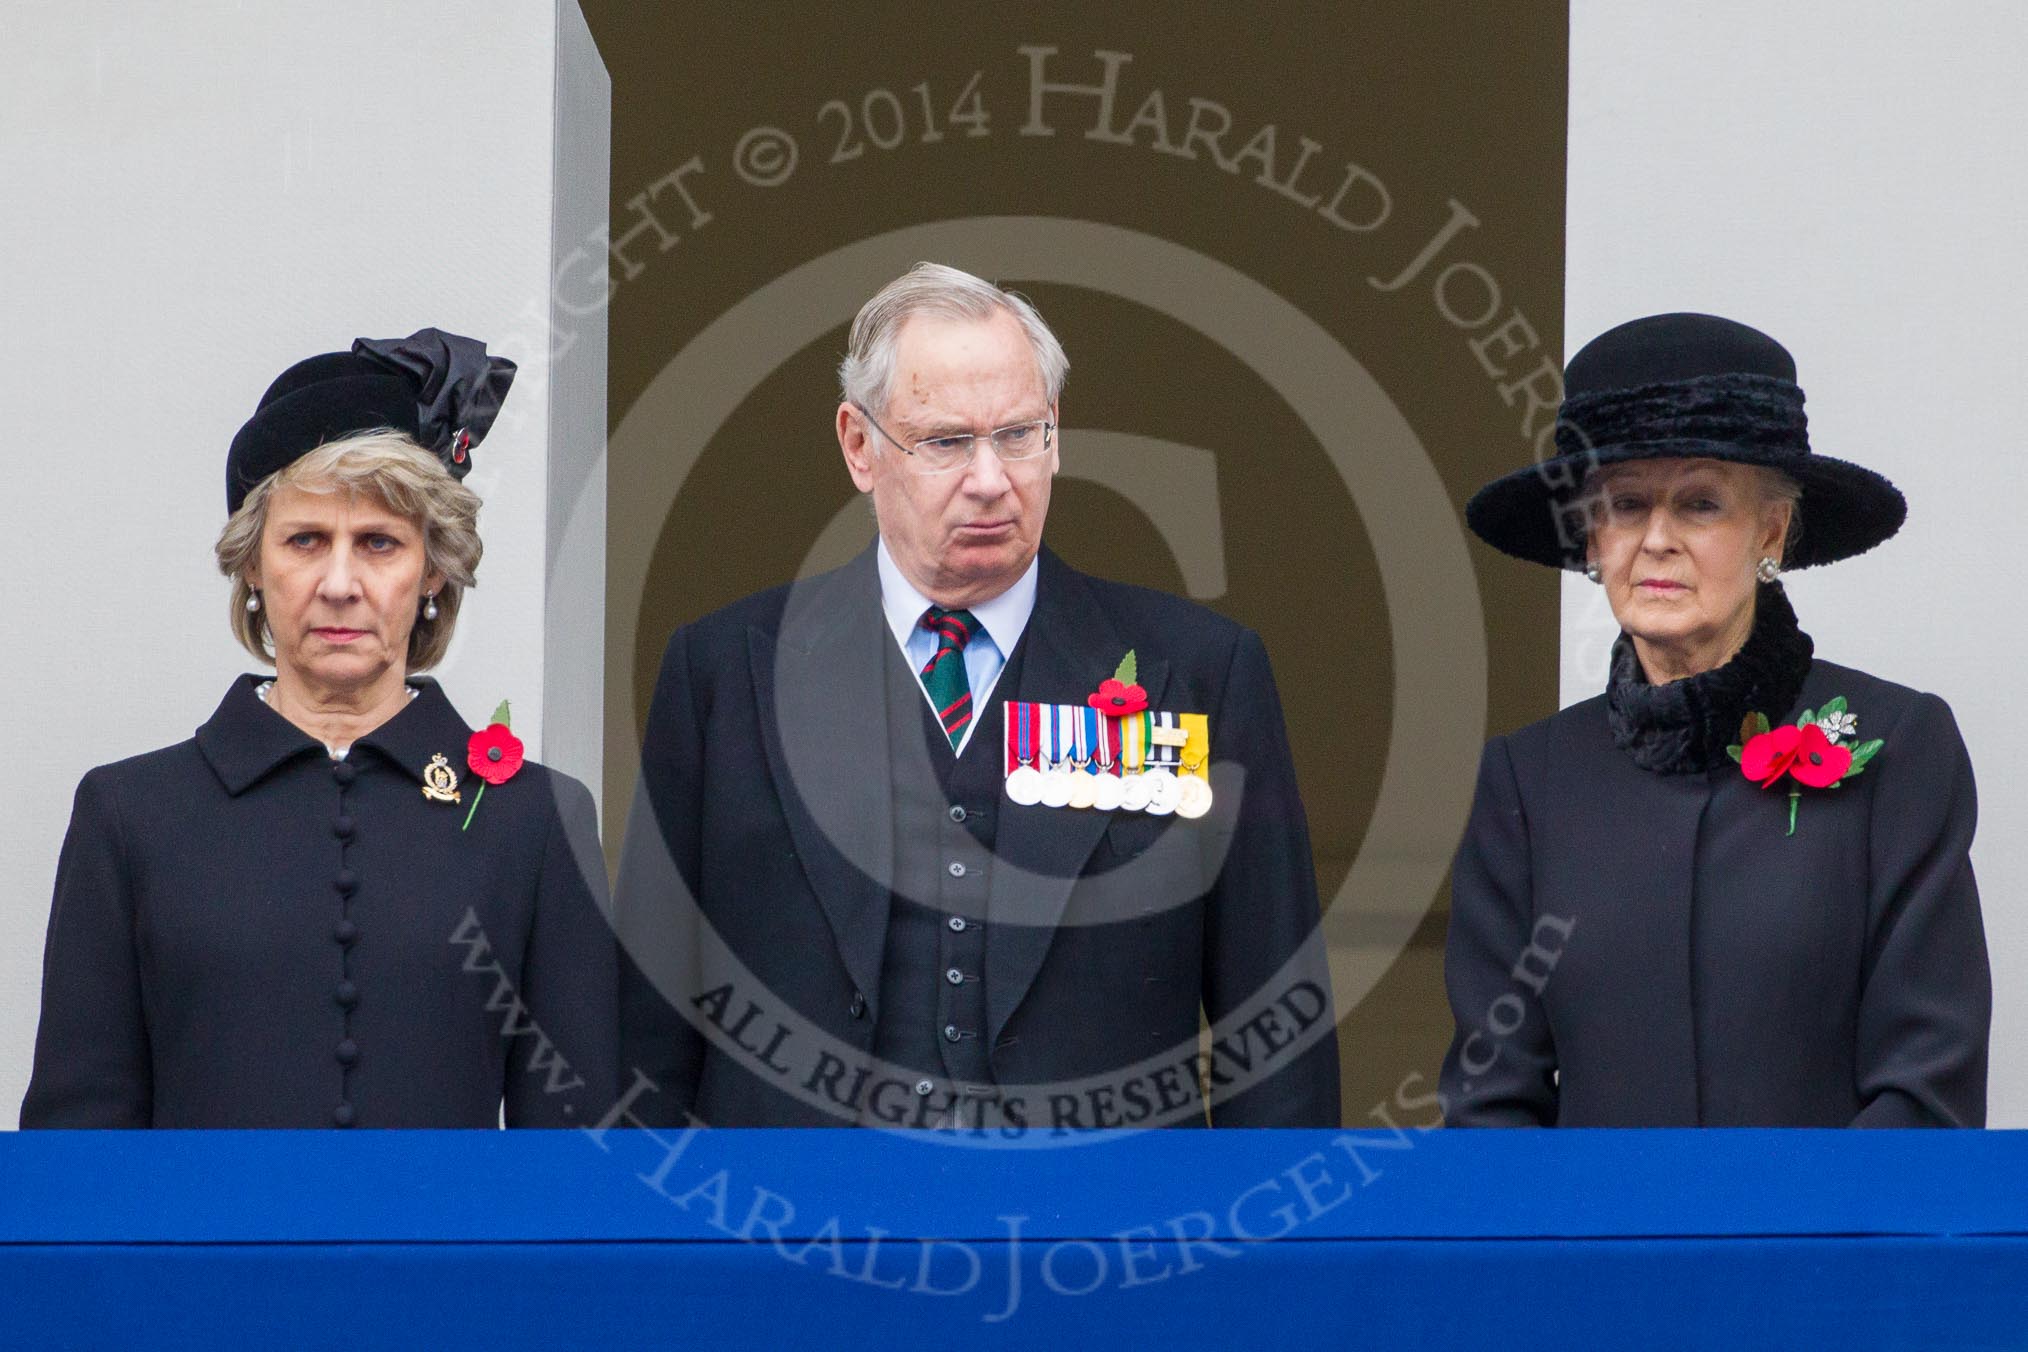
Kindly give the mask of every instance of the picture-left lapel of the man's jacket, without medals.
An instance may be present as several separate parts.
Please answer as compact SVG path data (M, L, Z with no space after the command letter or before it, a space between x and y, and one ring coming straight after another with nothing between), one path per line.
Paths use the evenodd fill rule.
M789 590L781 634L748 630L775 797L852 983L880 995L894 880L894 791L872 549Z

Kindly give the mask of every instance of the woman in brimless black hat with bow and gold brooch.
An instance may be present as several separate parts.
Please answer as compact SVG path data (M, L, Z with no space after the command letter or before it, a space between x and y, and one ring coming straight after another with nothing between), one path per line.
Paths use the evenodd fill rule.
M612 1103L590 795L416 677L473 586L460 480L511 381L473 339L361 339L233 438L219 568L274 675L79 784L22 1127L564 1127Z

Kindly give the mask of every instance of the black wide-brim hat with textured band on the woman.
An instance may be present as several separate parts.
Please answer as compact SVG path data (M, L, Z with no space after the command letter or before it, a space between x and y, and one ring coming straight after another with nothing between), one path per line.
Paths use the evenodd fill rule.
M1797 480L1803 529L1783 559L1791 570L1866 553L1908 517L1882 474L1811 452L1789 351L1716 314L1651 314L1586 343L1564 369L1555 448L1464 505L1489 545L1549 568L1584 566L1584 476L1622 460L1728 460Z

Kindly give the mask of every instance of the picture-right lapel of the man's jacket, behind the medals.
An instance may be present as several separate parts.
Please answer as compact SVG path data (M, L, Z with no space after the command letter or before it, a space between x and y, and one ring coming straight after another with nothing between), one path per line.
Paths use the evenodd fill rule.
M1020 689L1002 685L994 697L1083 703L1113 673L1128 647L1130 641L1099 608L1083 574L1044 549L1034 614L1020 639ZM1166 683L1166 661L1140 663L1148 707L1158 705ZM977 750L998 754L996 748ZM1111 821L1111 813L1020 807L1010 799L1000 799L1000 805L986 906L992 922L986 945L986 1013L988 1038L994 1040L1034 985L1071 888Z

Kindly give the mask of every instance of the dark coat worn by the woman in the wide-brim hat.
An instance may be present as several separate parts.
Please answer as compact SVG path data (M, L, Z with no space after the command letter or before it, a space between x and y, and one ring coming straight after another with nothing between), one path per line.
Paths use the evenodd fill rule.
M1866 772L1655 774L1604 695L1495 738L1452 872L1464 1125L1983 1125L1991 977L1971 760L1935 695L1825 661ZM1770 716L1774 711L1768 711Z

